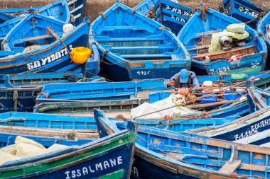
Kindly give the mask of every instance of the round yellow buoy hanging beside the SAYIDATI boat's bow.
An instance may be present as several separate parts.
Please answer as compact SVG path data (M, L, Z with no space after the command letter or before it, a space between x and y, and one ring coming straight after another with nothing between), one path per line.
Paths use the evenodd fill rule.
M75 64L84 64L91 55L91 50L85 47L75 47L70 52L71 60Z

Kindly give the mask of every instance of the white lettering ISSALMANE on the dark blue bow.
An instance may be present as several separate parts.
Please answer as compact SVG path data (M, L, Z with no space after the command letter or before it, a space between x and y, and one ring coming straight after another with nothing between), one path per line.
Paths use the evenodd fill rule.
M83 166L82 168L76 170L66 171L65 179L79 178L81 176L91 175L91 173L104 171L107 168L114 168L115 166L119 166L121 164L123 164L122 156L118 156L117 158L95 163L91 166Z

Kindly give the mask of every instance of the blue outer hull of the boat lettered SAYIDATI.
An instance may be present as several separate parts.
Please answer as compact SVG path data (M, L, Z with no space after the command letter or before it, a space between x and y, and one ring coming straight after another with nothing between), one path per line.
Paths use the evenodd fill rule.
M34 16L34 15L33 15ZM87 20L86 20L87 21ZM75 47L86 47L88 45L89 26L87 22L79 25L72 33L69 33L62 40L53 42L49 47L41 50L17 54L0 60L0 74L33 74L53 71L76 71L87 77L96 75L99 71L99 54L88 59L86 64L70 63L68 51ZM63 43L65 46L63 46Z

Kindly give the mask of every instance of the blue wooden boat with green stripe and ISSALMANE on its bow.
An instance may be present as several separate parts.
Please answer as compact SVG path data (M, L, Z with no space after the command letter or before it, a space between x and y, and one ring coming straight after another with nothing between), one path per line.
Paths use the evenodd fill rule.
M135 124L129 123L126 130L94 142L91 139L70 141L21 135L45 147L53 144L63 144L67 147L2 163L0 178L129 178L136 128ZM14 144L17 136L1 133L1 146Z

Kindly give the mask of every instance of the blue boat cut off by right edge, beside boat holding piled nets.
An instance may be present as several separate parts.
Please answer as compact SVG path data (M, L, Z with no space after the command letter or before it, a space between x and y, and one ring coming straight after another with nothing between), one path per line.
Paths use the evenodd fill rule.
M259 21L257 25L257 31L258 35L264 37L264 40L267 45L267 50L268 50L268 57L270 57L270 12L266 13L264 18L261 18L261 21ZM269 62L266 64L267 69L269 69Z

